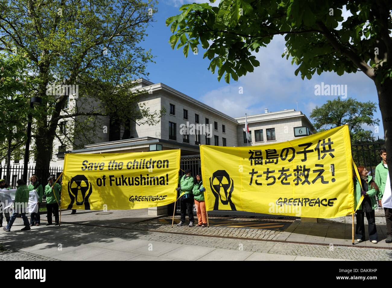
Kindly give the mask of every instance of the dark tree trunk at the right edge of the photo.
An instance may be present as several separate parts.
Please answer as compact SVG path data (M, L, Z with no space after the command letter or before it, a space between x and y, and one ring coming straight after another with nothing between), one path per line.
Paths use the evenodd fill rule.
M389 170L389 177L392 179L392 80L385 80L383 84L375 81L378 94L378 105L381 110L381 117L383 120L384 131L385 131L385 149L387 150L387 164ZM385 187L387 188L387 187ZM391 187L392 189L392 181Z

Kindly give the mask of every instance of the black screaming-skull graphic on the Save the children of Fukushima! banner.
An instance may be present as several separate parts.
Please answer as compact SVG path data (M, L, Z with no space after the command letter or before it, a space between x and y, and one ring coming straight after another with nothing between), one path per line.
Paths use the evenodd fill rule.
M86 210L90 210L89 196L93 192L91 182L88 181L84 175L76 175L68 182L68 194L71 198L71 203L68 209L72 209L73 203L80 206L84 204Z

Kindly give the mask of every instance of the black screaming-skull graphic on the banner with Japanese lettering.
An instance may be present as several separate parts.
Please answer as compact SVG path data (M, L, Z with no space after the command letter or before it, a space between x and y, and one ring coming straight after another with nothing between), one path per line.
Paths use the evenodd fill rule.
M215 196L214 210L219 210L219 201L223 205L230 204L232 211L237 211L236 206L231 201L231 194L234 190L233 179L225 170L216 170L210 178L211 191Z

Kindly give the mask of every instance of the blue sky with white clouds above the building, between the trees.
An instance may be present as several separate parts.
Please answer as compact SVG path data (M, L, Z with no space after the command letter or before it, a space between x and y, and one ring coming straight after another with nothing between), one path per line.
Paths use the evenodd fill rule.
M269 111L297 109L298 101L298 110L309 118L316 105L321 106L327 100L336 98L314 95L315 85L321 85L321 82L347 85L348 97L377 103L376 118L380 120L380 127L379 133L374 133L374 136L383 138L377 91L372 80L362 72L345 73L342 76L323 72L321 76L315 74L311 80L302 80L299 75L294 75L297 66L281 57L285 49L283 36L276 36L268 47L261 48L255 54L260 67L241 77L238 82L230 80L230 84L225 83L223 78L218 82L217 74L207 70L209 60L203 59L204 50L201 46L198 55L190 51L188 58L183 55L182 48L172 50L168 43L171 32L165 26L165 20L179 14L180 5L189 2L193 1L161 0L158 4L158 13L154 15L156 22L147 28L148 36L142 43L145 49L151 49L156 56L156 63L148 65L150 81L164 83L232 117L245 116L245 113L260 114L265 108ZM344 12L343 16L347 16L347 13ZM239 87L243 87L243 94L239 94ZM374 127L364 128L375 131Z

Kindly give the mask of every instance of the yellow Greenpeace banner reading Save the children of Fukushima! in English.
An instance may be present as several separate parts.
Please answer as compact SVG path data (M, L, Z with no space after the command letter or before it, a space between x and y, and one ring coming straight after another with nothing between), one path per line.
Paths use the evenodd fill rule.
M65 154L61 208L127 210L176 201L180 150Z

